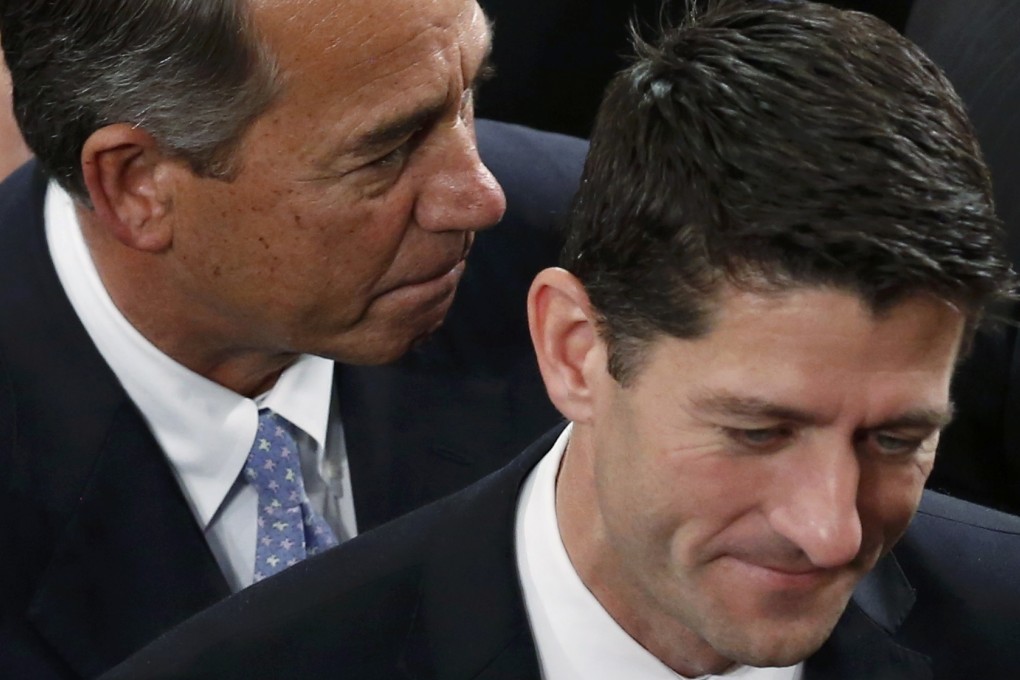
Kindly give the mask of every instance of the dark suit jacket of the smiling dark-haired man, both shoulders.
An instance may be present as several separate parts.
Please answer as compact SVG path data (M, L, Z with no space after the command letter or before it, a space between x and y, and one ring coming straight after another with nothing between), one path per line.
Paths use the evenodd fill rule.
M538 680L514 517L558 429L468 489L204 612L103 680ZM925 492L805 680L1015 678L1018 572L1020 519Z

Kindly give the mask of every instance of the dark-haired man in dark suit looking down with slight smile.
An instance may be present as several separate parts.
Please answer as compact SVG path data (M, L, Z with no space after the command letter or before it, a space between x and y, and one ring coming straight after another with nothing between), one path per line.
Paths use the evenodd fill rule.
M1020 519L923 491L990 192L891 29L713 3L610 86L531 287L572 424L109 677L1012 677Z

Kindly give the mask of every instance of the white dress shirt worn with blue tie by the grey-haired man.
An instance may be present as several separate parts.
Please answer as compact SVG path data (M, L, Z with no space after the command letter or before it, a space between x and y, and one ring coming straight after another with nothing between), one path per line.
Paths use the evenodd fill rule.
M71 306L165 453L232 588L250 585L255 571L258 494L239 475L260 408L301 428L301 469L312 507L338 539L355 535L343 426L330 409L333 362L303 356L254 400L216 384L163 354L124 318L99 277L70 196L52 181L45 223Z

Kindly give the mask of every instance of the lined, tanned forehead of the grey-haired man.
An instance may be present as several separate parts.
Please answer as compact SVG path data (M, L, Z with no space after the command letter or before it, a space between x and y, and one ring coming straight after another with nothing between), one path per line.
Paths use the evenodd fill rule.
M317 126L312 174L342 173L459 106L491 49L474 0L261 0L282 96L262 123ZM277 114L283 114L278 115ZM274 122L275 121L275 122ZM295 123L295 121L299 121Z

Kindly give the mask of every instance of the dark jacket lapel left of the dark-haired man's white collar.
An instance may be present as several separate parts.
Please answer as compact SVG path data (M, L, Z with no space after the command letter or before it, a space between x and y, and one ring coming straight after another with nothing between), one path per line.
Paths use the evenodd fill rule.
M420 680L539 678L517 578L514 520L520 485L562 428L472 487L444 518L425 561L407 651Z

